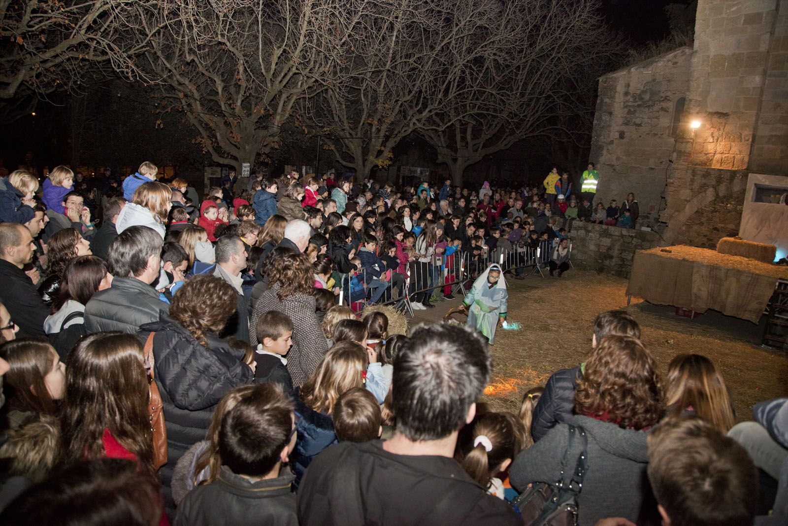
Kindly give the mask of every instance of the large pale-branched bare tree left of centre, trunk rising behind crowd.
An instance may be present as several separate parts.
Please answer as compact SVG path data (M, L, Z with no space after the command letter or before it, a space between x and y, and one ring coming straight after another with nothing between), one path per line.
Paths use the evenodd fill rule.
M340 0L162 0L139 10L162 110L182 110L216 162L255 162L280 144L355 13ZM161 26L161 29L157 29ZM330 35L327 34L330 30ZM138 37L139 38L139 37Z

